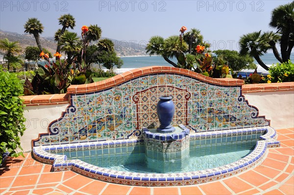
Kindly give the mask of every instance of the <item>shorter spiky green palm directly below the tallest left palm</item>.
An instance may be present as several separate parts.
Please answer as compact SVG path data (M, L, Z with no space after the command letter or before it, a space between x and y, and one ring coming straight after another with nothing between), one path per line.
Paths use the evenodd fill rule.
M82 49L80 39L75 32L65 31L60 37L61 51L65 51L68 55L67 61L72 63L72 55L74 52L79 52Z

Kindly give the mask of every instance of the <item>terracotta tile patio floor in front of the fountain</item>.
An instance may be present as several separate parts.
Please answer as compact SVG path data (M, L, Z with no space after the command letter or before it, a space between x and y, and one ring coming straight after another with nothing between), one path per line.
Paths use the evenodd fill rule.
M0 168L0 194L102 194L102 195L197 195L197 194L294 194L294 128L278 129L281 147L268 149L259 166L214 182L180 187L136 187L111 184L73 171L50 172L51 165L31 158L9 158Z

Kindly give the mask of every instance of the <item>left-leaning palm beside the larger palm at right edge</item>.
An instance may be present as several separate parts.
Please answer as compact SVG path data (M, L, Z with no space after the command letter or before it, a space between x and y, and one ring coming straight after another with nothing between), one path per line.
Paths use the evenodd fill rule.
M240 54L245 55L248 53L251 57L255 58L262 68L269 70L269 67L259 57L270 49L270 45L265 40L265 36L262 36L261 31L243 35L240 38L239 45Z

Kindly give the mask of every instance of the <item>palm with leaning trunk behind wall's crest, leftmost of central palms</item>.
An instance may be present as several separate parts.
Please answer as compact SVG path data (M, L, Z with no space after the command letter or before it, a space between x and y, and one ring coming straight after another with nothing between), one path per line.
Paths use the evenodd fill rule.
M152 36L149 43L146 46L146 53L151 55L161 55L168 63L172 64L174 67L178 67L174 62L172 62L165 53L165 40L161 36Z

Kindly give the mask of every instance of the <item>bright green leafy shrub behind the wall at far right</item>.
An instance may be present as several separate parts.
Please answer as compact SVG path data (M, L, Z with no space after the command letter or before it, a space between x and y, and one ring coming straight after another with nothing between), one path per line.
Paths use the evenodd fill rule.
M271 82L292 82L294 81L294 64L289 60L282 64L277 63L270 67Z

